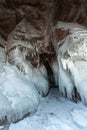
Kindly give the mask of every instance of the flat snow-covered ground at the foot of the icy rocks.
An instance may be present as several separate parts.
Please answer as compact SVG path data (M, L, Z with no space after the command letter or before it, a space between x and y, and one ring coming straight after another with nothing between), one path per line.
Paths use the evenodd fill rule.
M11 124L9 130L87 130L87 106L74 103L51 90L42 99L38 111L26 119Z

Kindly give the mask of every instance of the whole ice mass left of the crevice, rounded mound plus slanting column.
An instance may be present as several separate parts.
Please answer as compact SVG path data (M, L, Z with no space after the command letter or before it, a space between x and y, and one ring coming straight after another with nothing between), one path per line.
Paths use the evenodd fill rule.
M29 38L26 29L23 31L26 39ZM0 36L0 125L17 122L35 112L41 96L46 96L49 91L44 74L25 58L28 49L32 50L33 46L20 39L11 39L8 42L9 46Z

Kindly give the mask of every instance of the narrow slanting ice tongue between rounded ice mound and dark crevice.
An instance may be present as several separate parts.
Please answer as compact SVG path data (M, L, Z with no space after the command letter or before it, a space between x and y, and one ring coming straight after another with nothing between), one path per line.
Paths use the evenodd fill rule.
M48 93L48 81L43 76L43 74L39 71L38 68L34 68L29 61L26 61L23 53L20 51L18 47L14 51L12 51L12 62L18 66L18 68L24 72L24 74L28 75L31 81L34 83L36 89L38 90L41 96L45 96Z

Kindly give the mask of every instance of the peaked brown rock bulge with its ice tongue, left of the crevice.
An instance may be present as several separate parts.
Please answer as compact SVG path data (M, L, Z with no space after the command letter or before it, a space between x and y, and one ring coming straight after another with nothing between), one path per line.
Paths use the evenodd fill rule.
M45 96L49 90L48 81L31 62L31 58L36 55L38 55L37 62L39 62L38 47L43 48L43 44L41 44L42 46L39 44L41 43L39 37L42 37L42 32L34 29L31 24L23 19L8 36L8 62L15 64L21 72L28 75L39 94ZM46 41L44 42L46 43Z

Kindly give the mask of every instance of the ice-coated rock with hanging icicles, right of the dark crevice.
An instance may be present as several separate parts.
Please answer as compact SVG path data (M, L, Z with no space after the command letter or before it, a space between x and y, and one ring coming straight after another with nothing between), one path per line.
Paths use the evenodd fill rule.
M81 98L87 104L87 30L77 24L59 22L69 29L58 50L59 90L70 99Z

